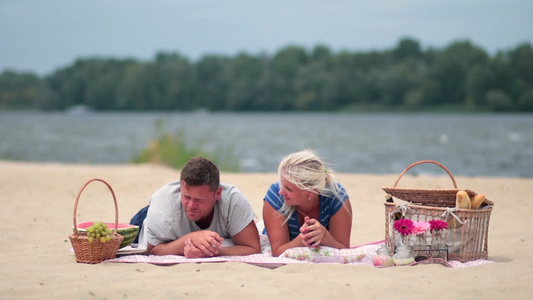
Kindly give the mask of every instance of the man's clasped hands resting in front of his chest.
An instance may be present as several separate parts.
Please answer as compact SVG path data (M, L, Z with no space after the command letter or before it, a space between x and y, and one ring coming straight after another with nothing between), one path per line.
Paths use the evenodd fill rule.
M209 230L196 231L188 234L183 254L187 258L211 257L218 254L224 238Z

